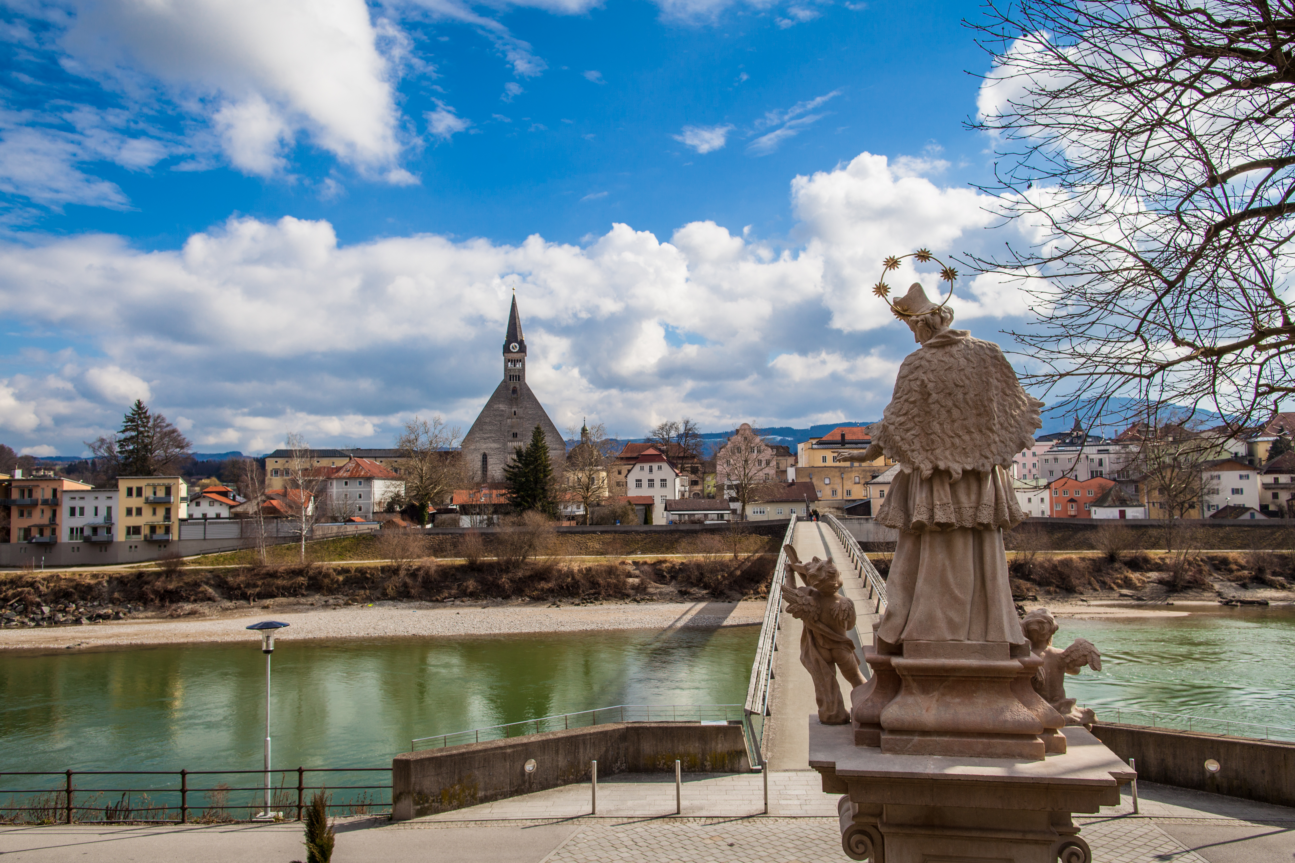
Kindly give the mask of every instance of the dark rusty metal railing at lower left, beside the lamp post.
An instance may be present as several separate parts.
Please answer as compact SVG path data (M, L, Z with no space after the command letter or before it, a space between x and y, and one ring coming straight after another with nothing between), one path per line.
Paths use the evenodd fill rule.
M328 807L335 814L391 811L391 767L294 767L269 772L278 778L271 789L271 810L285 819L300 820L316 791L329 794ZM385 774L385 784L356 784L370 774ZM265 807L265 785L249 785L254 780L247 778L264 775L265 770L0 771L0 823L251 820Z

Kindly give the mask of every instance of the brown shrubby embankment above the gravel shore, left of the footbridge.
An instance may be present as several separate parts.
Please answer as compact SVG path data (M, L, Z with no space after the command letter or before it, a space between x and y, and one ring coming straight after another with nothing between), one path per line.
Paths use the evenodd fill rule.
M381 565L346 563L262 567L128 569L109 572L10 572L0 574L0 607L16 617L4 625L73 622L41 608L89 604L117 611L162 611L172 616L277 598L320 596L335 604L382 599L501 600L737 600L764 595L773 555L738 559L571 563L559 558L519 564L479 560L414 560ZM49 620L47 620L47 617Z

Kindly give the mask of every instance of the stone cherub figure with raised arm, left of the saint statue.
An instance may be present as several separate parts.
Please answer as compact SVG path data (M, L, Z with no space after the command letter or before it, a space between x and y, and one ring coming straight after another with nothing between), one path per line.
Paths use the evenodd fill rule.
M837 669L850 681L850 684L862 686L864 675L859 673L859 657L855 643L847 633L855 628L855 604L842 596L840 572L831 558L800 563L795 549L783 546L790 560L790 569L799 573L807 586L782 586L782 598L787 600L787 612L799 620L800 664L813 679L813 696L818 704L818 722L824 725L846 725L850 712L837 681Z

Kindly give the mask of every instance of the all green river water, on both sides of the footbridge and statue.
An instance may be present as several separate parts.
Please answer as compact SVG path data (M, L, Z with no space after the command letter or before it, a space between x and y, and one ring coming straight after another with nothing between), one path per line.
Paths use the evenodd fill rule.
M1295 609L1062 621L1103 670L1081 704L1295 727ZM290 630L289 630L290 631ZM554 635L278 640L276 766L382 766L412 737L614 704L739 704L755 626ZM0 770L254 769L258 643L0 653ZM1125 719L1129 721L1129 719Z

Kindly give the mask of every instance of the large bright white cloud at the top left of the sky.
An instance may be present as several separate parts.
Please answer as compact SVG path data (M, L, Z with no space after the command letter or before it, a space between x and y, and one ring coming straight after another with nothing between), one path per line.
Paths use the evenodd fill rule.
M220 131L231 162L264 173L304 132L361 168L399 157L392 66L364 0L70 0L60 44L83 74L146 97L161 85ZM398 49L392 25L385 41Z

